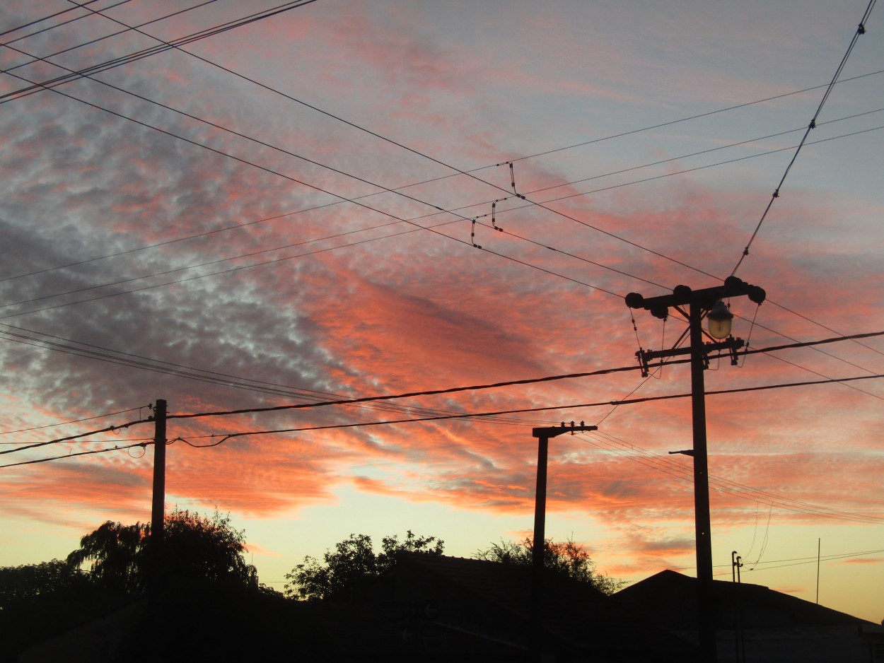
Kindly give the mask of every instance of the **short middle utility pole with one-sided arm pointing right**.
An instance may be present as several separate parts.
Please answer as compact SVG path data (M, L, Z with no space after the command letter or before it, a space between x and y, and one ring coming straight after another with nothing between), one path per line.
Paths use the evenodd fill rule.
M566 426L547 426L532 429L531 435L537 438L537 492L534 493L534 541L531 546L531 653L534 660L543 658L543 581L544 544L546 538L546 459L549 439L564 433L574 435L577 431L598 431L598 426L586 426L583 422L576 426L571 422Z

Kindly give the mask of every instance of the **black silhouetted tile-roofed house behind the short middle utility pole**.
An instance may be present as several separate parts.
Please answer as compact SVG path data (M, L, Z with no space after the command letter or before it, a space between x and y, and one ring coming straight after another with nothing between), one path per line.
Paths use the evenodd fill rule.
M637 621L587 583L545 576L543 639L554 661L683 661L694 647ZM524 660L530 652L530 568L420 552L365 595L421 659Z

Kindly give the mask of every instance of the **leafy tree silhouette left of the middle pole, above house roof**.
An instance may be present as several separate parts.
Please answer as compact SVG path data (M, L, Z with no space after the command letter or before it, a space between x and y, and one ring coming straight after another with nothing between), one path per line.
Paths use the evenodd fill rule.
M426 552L441 555L445 541L436 537L416 537L408 530L403 541L397 535L384 537L382 552L375 553L371 537L351 534L335 544L334 551L326 550L323 561L309 555L304 562L286 574L286 596L308 600L347 598L355 585L366 578L381 575L396 564L397 552Z

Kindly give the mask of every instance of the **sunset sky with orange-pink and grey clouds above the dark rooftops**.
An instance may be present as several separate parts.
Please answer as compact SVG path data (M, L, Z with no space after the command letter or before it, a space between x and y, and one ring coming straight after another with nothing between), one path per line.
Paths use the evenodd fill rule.
M636 362L686 323L624 296L735 273L766 301L705 371L715 577L880 622L867 6L4 3L0 565L149 521L163 399L166 508L230 514L280 591L351 533L530 536L563 421L598 431L550 441L547 536L693 575L690 370Z

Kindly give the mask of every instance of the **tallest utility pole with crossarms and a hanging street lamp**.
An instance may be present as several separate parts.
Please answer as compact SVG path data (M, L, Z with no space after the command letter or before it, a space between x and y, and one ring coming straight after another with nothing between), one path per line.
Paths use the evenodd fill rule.
M700 657L706 663L715 663L717 659L715 642L715 624L713 621L713 549L710 530L712 529L709 513L709 462L706 449L706 406L705 384L703 371L707 368L706 354L713 349L728 349L731 363L736 363L736 349L742 347L743 341L730 336L730 321L733 314L724 306L722 300L728 297L747 295L751 301L761 304L766 293L763 288L751 286L741 278L730 276L723 286L713 286L702 290L691 290L688 286L675 286L672 294L644 299L639 293L626 295L626 305L630 309L645 309L654 317L666 320L669 308L672 307L688 320L690 334L690 402L692 413L692 429L694 447L690 456L694 459L694 523L697 540L697 618L700 640ZM685 311L682 307L688 307ZM702 326L704 317L710 321L710 330L705 332ZM705 343L704 333L713 340L728 339L724 343ZM676 341L682 342L684 334ZM652 358L686 354L686 351L673 348L660 352L643 352L636 355L642 363L646 374L647 362ZM683 452L682 452L683 453Z

